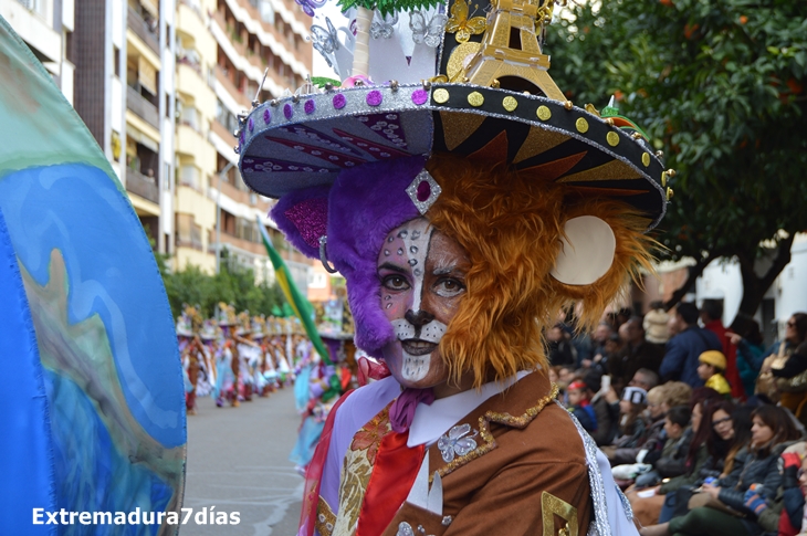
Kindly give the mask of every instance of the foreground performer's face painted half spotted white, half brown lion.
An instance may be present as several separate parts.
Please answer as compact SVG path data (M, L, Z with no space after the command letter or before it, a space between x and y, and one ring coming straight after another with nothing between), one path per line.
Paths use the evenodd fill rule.
M438 345L465 292L464 250L425 218L392 230L378 255L381 308L396 340L384 348L387 367L405 387L448 378Z

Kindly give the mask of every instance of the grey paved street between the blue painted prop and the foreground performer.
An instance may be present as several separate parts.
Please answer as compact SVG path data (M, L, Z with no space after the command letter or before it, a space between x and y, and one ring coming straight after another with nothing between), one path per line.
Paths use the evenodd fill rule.
M289 453L300 417L291 388L240 408L206 397L188 417L185 507L193 513L240 512L238 526L184 525L182 536L292 536L300 519L303 479Z

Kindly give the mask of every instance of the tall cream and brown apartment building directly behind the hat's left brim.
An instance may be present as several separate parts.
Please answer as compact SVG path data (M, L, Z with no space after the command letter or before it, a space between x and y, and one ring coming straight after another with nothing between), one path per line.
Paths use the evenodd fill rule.
M243 183L233 150L239 114L256 96L265 101L296 90L311 73L306 19L293 0L178 1L177 267L212 272L217 252L227 250L226 262L271 280L260 219L298 286L308 287L310 261L266 218L271 200ZM321 277L316 281L315 286Z

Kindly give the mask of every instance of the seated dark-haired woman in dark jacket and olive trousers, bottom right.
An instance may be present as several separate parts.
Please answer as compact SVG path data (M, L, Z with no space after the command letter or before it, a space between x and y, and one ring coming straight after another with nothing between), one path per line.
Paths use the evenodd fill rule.
M767 508L782 507L780 504L774 504L783 482L777 464L785 448L798 440L800 433L783 408L763 406L754 410L752 416L752 440L744 463L735 464L731 474L702 485L701 493L709 495L706 498L717 507L693 508L669 523L642 528L642 536L753 536L776 533L778 515L761 514ZM750 490L753 493L748 494Z

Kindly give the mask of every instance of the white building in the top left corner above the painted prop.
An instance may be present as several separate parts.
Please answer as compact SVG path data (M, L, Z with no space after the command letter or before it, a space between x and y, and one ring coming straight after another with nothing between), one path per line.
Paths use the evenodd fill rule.
M2 0L0 15L22 38L73 103L75 71L73 0Z

